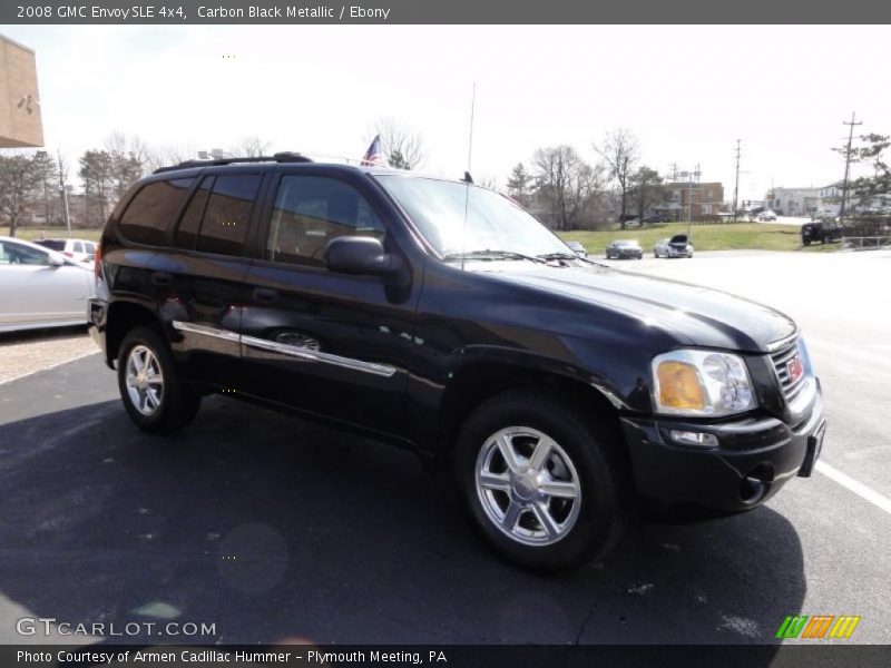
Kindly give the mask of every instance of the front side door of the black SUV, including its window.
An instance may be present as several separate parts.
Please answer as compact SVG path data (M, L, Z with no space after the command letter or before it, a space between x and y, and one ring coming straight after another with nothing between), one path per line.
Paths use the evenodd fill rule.
M419 287L333 273L323 261L339 236L372 236L399 252L373 195L358 175L303 168L276 178L246 279L244 390L404 436Z

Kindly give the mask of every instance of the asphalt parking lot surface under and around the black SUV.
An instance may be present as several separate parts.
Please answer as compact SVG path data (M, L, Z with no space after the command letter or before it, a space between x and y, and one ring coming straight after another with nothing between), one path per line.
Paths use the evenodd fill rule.
M891 494L891 254L613 264L799 318L824 461ZM22 616L215 625L189 642L748 644L775 642L786 615L844 613L863 617L848 642L891 638L891 515L820 472L742 515L640 524L544 578L496 559L450 481L405 453L222 396L179 435L141 434L99 355L0 385L0 461L2 642L29 639Z

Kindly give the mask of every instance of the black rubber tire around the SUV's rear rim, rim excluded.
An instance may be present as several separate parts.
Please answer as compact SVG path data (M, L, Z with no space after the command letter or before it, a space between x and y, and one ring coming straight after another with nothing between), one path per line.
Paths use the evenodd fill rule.
M157 406L150 414L140 412L127 387L128 362L131 351L137 346L150 351L163 377ZM164 338L153 328L135 327L127 333L120 344L117 372L118 390L124 407L143 431L150 433L176 431L188 424L198 412L200 395L176 375L170 350Z

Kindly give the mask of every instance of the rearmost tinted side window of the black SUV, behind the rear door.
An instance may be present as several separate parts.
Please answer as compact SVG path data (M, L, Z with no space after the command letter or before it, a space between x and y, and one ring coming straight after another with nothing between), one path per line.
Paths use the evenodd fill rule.
M148 184L133 198L120 218L120 233L137 244L158 246L174 223L193 179L178 178Z

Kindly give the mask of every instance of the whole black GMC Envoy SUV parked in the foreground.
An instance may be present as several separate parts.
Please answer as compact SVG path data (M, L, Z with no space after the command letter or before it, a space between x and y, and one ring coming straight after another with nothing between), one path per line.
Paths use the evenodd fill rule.
M96 273L91 333L139 428L226 391L410 448L529 568L598 558L640 501L754 508L820 454L789 317L581 259L470 183L185 163L121 199Z

